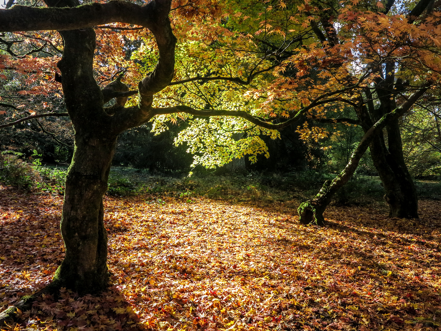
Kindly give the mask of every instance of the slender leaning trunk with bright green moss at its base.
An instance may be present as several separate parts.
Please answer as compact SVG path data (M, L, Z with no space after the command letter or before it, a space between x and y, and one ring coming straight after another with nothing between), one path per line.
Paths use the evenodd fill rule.
M369 129L366 129L362 140L351 155L351 159L344 168L344 170L332 181L326 181L322 188L318 192L317 196L306 202L300 204L298 208L299 221L301 224L315 224L322 226L325 223L323 213L331 202L334 194L346 184L354 174L357 166L371 143L377 139L378 135L382 132L386 125L393 123L401 115L406 112L411 105L426 91L426 88L422 87L420 90L411 94L411 96L400 107L392 110L390 113L381 117L374 125Z

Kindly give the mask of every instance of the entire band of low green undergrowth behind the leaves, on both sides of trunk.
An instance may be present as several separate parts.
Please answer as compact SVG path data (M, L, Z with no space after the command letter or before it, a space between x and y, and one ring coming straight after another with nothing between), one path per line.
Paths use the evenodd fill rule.
M30 162L10 151L0 154L0 182L30 192L64 194L66 167L41 165L36 152ZM335 175L313 170L291 173L257 173L217 175L199 172L192 177L176 173L161 176L143 169L112 167L108 195L146 196L150 203L162 197L174 197L191 203L196 197L227 200L232 203L293 203L314 198L321 185ZM441 183L416 181L421 198L441 199ZM384 190L378 177L357 176L334 196L333 204L384 204Z

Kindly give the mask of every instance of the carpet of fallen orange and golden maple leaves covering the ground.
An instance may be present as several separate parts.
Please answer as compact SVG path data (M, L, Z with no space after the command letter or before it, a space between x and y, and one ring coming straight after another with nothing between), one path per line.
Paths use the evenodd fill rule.
M0 186L0 305L44 287L64 256L60 196ZM105 197L112 286L42 296L2 330L437 330L441 202L418 220L331 207Z

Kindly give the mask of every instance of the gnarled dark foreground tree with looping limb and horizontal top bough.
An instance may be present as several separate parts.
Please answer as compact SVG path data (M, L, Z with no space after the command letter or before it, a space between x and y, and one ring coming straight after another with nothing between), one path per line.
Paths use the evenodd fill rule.
M48 1L46 4L49 8L14 6L4 10L0 30L58 29L63 37L63 56L57 66L61 71L67 112L75 128L75 152L66 179L61 220L66 257L52 284L93 293L108 283L102 197L107 191L116 138L125 129L155 115L151 107L153 94L167 86L173 77L176 38L168 19L170 1L150 2L144 7L115 1L72 9L53 7L75 7L79 3ZM27 23L19 19L33 15L37 15L35 20L26 19ZM57 16L57 19L48 19ZM21 21L18 25L17 20ZM112 97L127 94L119 92L118 87L110 86L103 92L98 87L93 77L95 32L90 26L114 21L149 28L156 37L160 59L155 70L139 83L138 105L105 109L103 92Z

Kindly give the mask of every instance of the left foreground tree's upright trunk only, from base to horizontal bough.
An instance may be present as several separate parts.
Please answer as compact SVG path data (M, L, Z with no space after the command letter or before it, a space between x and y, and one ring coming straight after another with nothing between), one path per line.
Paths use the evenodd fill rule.
M93 79L95 32L84 29L61 31L61 34L64 53L58 67L67 111L75 129L75 151L66 177L61 218L66 257L56 271L52 286L96 293L108 284L103 196L117 132L111 129L101 90Z

